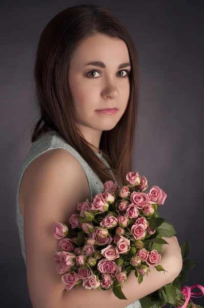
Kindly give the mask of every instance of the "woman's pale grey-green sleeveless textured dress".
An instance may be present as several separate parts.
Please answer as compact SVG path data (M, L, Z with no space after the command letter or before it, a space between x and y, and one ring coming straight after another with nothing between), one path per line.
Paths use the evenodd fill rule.
M19 208L19 188L21 185L24 172L26 168L29 166L29 164L39 155L45 153L48 150L54 149L54 148L66 149L78 160L81 167L83 167L87 180L88 180L89 188L90 188L91 200L95 195L99 194L101 192L100 189L103 189L104 187L103 183L97 177L95 172L90 168L87 162L79 155L79 153L71 145L65 142L65 140L61 138L56 132L51 131L51 132L43 133L42 136L40 136L38 140L33 142L26 158L23 161L21 171L19 174L19 178L18 178L18 182L17 182L17 193L16 193L16 224L17 224L19 240L21 243L21 251L22 251L25 265L26 265L26 251L25 251L25 242L24 242L24 218ZM103 160L105 165L109 166L106 160L103 158L102 154L97 153L97 152L96 154L99 156L101 160ZM141 308L141 305L140 305L139 300L137 300L125 308Z

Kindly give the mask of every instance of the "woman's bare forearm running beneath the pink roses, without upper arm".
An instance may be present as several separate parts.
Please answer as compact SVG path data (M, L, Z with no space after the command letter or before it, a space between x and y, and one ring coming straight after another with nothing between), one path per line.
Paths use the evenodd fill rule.
M170 245L169 245L170 246ZM158 264L161 264L167 272L157 272L156 268L151 268L151 272L143 277L139 284L134 275L134 271L128 276L123 284L122 291L128 300L118 299L111 290L98 291L87 290L79 285L76 289L65 290L62 301L54 303L50 308L124 308L125 306L139 300L142 297L158 290L165 284L171 283L180 273L180 261L174 257L169 247L169 255L162 258Z

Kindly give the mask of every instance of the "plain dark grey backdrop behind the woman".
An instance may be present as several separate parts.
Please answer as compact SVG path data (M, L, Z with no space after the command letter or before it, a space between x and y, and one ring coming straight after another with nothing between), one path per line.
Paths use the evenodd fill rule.
M33 62L38 37L56 13L85 3L62 0L1 3L2 307L31 307L15 224L15 197L19 170L31 145L29 125L37 115ZM189 272L185 285L204 285L204 2L92 3L107 7L119 17L135 42L140 69L136 169L151 185L158 185L167 193L159 213L174 225L179 243L189 239L189 258L196 267ZM193 292L199 290L195 288ZM192 300L204 306L204 297Z

